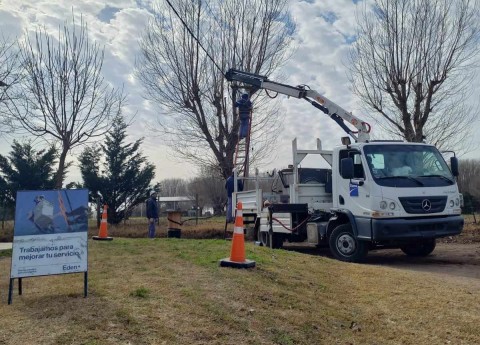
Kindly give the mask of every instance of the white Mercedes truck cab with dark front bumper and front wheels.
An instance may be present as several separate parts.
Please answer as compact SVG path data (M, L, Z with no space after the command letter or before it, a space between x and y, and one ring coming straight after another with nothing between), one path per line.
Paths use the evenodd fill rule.
M357 247L362 252L394 247L409 255L428 255L436 238L462 231L456 159L452 173L435 146L355 143L336 148L333 157L335 216L327 233L337 258L364 256ZM346 229L343 235L334 233L339 226Z

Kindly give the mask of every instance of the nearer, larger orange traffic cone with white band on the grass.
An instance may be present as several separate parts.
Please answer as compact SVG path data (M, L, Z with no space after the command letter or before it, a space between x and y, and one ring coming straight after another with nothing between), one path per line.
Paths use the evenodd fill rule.
M255 261L245 259L245 239L243 234L243 207L242 202L237 204L235 227L233 228L232 250L230 258L220 260L222 267L251 268Z

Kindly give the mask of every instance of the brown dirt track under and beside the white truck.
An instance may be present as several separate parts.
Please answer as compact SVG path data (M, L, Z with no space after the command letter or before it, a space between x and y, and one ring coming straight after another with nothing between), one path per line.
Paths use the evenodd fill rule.
M287 244L285 249L330 257L326 248L319 250ZM429 272L442 279L480 288L480 243L437 243L433 253L425 258L409 257L400 249L374 250L368 253L365 264Z

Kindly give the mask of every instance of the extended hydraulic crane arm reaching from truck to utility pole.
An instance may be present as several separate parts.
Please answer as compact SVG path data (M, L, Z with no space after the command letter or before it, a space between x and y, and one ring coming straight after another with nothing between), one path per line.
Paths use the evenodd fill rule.
M291 86L276 83L268 80L266 76L243 72L236 69L228 70L228 72L225 73L225 78L228 81L238 81L248 84L253 87L253 92L259 89L264 89L295 98L303 98L315 108L330 116L330 118L334 120L348 135L355 139L355 141L367 142L370 140L370 125L367 122L360 120L352 115L352 113L349 113L328 98L320 95L315 90L308 89L305 86ZM357 130L352 131L344 121L352 124Z

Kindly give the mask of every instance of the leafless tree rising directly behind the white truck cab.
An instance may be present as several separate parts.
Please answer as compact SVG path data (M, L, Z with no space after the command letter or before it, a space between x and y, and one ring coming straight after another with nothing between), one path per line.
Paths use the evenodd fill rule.
M479 39L475 0L375 0L358 16L353 89L390 134L465 149ZM380 121L378 121L380 122Z

